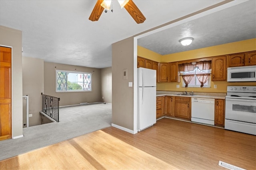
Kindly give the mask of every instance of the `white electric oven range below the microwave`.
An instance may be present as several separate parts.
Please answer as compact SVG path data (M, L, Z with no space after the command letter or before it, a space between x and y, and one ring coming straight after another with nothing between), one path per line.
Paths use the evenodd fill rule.
M228 86L225 129L256 135L256 86Z

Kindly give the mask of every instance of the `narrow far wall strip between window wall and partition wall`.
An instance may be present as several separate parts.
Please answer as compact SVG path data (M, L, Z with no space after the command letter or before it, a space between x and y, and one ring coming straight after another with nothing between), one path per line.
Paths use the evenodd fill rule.
M112 67L101 69L102 102L112 103Z

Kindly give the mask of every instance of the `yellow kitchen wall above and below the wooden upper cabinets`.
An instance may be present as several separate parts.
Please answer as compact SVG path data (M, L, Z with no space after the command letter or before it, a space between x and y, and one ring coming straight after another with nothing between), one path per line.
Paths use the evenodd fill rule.
M216 45L212 47L206 47L202 49L196 49L196 50L185 51L181 53L174 53L174 54L163 55L163 56L157 53L156 53L157 55L153 56L154 55L153 51L150 51L148 49L138 46L138 56L151 59L157 62L169 63L174 61L200 59L205 57L213 57L218 55L226 55L226 54L240 53L240 52L253 51L253 50L256 50L256 39L249 39L249 40L238 41L234 43ZM151 58L148 58L147 56L150 56ZM176 85L180 85L180 88L176 88ZM217 85L217 88L214 88L214 85ZM211 88L183 88L182 82L180 83L161 82L156 84L156 90L226 93L227 86L256 86L256 82L215 81L215 82L211 82Z

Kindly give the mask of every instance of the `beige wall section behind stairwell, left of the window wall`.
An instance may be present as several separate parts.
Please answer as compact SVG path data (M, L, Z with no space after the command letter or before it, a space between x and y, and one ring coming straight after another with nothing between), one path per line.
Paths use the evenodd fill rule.
M29 126L40 125L42 95L44 93L44 60L22 57L23 96L29 97Z

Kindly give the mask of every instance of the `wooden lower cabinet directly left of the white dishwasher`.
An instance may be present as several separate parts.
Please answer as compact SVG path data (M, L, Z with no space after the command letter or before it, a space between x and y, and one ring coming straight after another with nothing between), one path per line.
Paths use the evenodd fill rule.
M191 107L189 97L175 97L175 117L191 119Z

